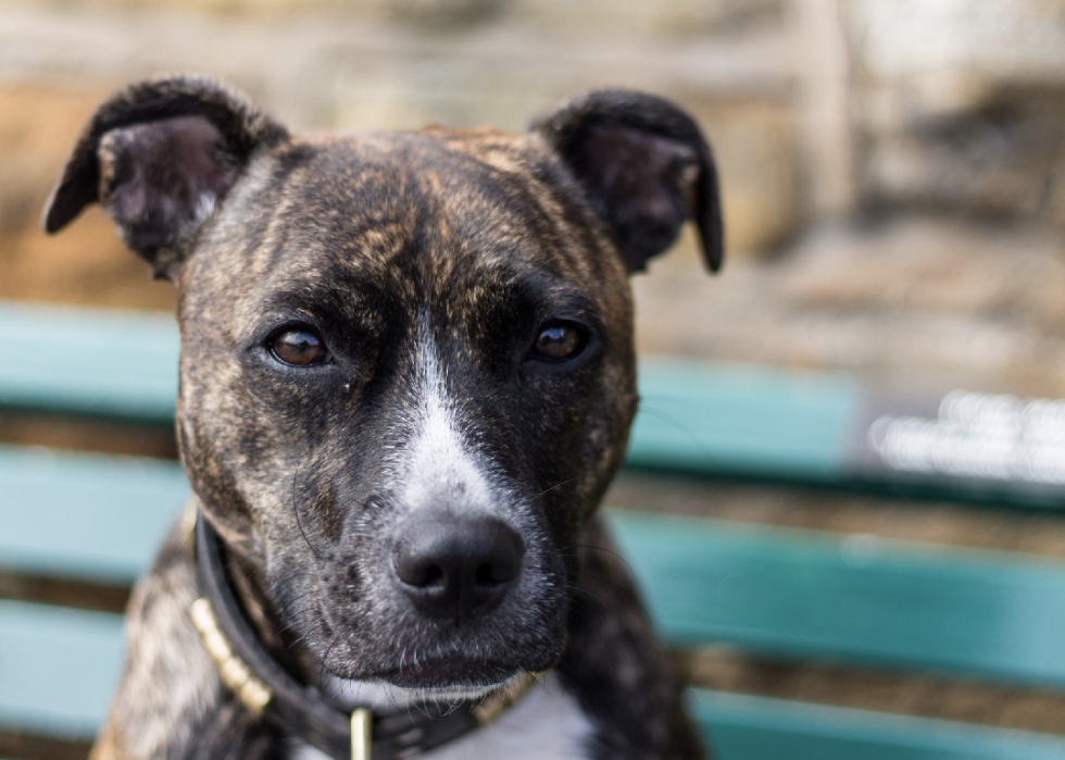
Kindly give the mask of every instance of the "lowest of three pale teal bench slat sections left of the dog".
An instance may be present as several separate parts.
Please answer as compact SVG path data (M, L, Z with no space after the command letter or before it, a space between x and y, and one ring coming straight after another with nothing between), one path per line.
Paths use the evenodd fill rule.
M121 615L0 600L0 727L91 738L122 656Z

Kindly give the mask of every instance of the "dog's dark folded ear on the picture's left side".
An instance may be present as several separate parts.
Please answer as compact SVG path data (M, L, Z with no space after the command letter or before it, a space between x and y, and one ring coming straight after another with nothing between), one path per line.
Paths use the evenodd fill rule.
M172 277L252 151L287 137L284 126L215 79L129 85L85 125L45 208L45 231L59 232L99 201L126 246L155 276Z

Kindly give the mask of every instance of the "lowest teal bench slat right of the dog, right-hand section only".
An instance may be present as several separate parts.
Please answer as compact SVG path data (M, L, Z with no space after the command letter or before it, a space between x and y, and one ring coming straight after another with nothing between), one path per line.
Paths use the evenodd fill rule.
M691 689L718 760L1063 760L1065 737Z

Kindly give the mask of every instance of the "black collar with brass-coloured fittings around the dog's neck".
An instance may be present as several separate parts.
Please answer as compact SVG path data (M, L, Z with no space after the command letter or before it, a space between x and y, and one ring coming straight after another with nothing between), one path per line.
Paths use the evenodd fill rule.
M318 689L303 686L266 651L237 601L222 557L222 538L197 512L196 563L201 597L191 616L222 681L255 715L336 760L406 760L494 721L524 697L538 676L527 675L483 700L427 702L416 710L348 713Z

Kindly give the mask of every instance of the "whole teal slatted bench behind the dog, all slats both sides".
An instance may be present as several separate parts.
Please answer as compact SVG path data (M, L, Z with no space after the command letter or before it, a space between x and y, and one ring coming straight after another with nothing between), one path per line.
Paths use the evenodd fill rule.
M170 320L3 304L0 336L9 348L0 356L4 413L168 423L177 357ZM116 346L121 366L100 360ZM966 432L949 403L887 413L847 379L697 364L643 367L641 393L634 468L1042 510L1062 503L1047 468L1019 468L1026 479L989 473L978 457L934 462L937 470L918 456L937 425L964 449L987 437L985 418L1012 413L1019 422L1010 429L1036 433L1010 451L1022 463L1041 461L1054 441L1032 440L1052 406L961 399L977 407L963 409L976 420ZM897 421L916 453L878 460L877 435ZM83 748L91 739L122 638L118 614L85 609L101 606L86 589L126 588L187 494L172 461L0 446L0 589L75 588L53 595L64 606L32 593L0 599L0 756L46 757L57 743ZM609 520L673 647L725 645L786 662L1065 693L1063 561L678 515L611 511ZM722 690L692 689L690 699L722 760L1065 759L1065 736Z

